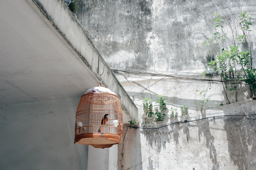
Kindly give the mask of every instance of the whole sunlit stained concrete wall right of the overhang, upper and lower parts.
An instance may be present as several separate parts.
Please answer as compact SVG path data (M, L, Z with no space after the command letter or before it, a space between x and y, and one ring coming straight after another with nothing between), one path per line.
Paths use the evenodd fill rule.
M211 38L215 13L229 20L247 11L255 20L255 2L251 0L77 0L73 11L91 32L87 32L88 37L110 67L185 76L212 71L207 62L216 55L201 43ZM254 31L251 36L254 54ZM239 85L237 99L229 90L232 86L227 86L227 99L222 84L164 76L140 79L140 75L118 71L114 74L138 107L135 121L140 127L124 129L118 169L255 168L255 115L245 115L255 114L255 101L248 86ZM200 104L204 98L198 96L203 90L210 99L204 106ZM150 122L142 118L142 99L155 101L159 94L165 97L167 116L162 122ZM181 114L181 104L188 106L188 114ZM177 117L170 116L171 109L177 109Z

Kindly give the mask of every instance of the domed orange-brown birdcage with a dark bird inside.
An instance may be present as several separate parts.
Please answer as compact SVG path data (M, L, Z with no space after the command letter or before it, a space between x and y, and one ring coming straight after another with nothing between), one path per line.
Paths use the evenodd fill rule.
M109 148L122 143L123 115L118 96L97 86L86 91L77 107L74 143Z

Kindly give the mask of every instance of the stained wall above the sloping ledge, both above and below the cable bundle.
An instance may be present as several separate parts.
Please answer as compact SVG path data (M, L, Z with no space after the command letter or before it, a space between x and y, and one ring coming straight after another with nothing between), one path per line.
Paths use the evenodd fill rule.
M82 1L76 0L72 8L78 20L89 32L88 37L102 54L110 67L164 71L161 73L193 77L207 67L209 56L216 56L212 49L202 46L214 31L212 20L219 12L229 21L239 13L247 11L256 20L255 2L247 1ZM238 24L238 23L237 23ZM252 25L252 54L255 55L256 34ZM255 63L256 59L254 59ZM133 63L132 63L133 62ZM143 67L140 67L143 66ZM255 68L255 64L253 65ZM149 70L148 70L149 69ZM180 104L195 107L201 90L208 90L210 101L204 109L250 98L248 86L237 85L237 93L229 91L228 99L222 85L205 84L174 78L142 76L114 71L136 105L145 97L155 99L156 94L164 95L170 106ZM194 74L196 75L196 74ZM142 78L142 79L141 79ZM163 80L157 82L161 78ZM202 76L201 76L202 78ZM209 78L209 77L208 77ZM216 77L210 77L216 78ZM185 82L185 83L184 83ZM153 83L155 85L151 86ZM208 88L209 87L209 88ZM146 90L145 90L146 89ZM137 103L136 103L137 102Z

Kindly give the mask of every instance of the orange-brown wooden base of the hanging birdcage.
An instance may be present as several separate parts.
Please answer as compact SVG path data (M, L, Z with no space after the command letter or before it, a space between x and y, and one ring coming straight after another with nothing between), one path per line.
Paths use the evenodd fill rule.
M87 133L79 134L75 136L74 144L79 143L82 145L91 145L95 148L109 148L112 145L122 143L122 137L113 134L103 134L101 133Z

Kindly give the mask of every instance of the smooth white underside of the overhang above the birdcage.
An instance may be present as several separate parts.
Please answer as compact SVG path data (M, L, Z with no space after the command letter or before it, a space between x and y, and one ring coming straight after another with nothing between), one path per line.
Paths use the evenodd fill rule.
M98 79L26 0L0 5L0 106L80 98Z

